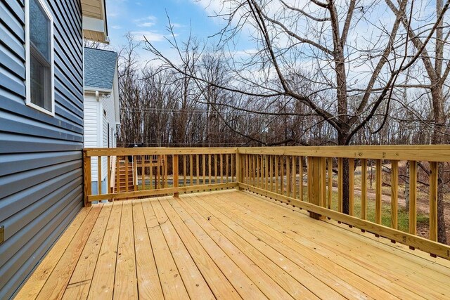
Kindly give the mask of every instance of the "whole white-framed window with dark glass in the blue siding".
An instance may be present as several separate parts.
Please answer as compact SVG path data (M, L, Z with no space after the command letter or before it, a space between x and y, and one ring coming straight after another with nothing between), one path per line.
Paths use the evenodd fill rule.
M53 17L44 0L25 0L27 105L54 115Z

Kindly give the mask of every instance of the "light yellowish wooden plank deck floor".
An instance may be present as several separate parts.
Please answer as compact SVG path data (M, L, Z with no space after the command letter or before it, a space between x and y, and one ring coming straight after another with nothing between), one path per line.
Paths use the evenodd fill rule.
M449 299L450 262L225 190L80 211L17 299Z

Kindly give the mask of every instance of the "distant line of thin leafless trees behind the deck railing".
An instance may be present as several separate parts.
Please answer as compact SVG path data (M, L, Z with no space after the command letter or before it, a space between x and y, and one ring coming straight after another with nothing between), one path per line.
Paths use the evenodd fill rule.
M178 67L195 70L207 82L200 86L192 76L142 65L136 54L139 46L129 37L120 52L119 146L338 145L333 127L300 100L217 88L236 80L228 72L223 53L185 53L188 60ZM301 93L314 89L301 83L297 88ZM355 98L354 103L359 100ZM381 105L379 110L386 108ZM373 116L351 144L429 144L433 124L427 94L404 91L390 103L387 117L383 113ZM448 143L448 126L446 131Z

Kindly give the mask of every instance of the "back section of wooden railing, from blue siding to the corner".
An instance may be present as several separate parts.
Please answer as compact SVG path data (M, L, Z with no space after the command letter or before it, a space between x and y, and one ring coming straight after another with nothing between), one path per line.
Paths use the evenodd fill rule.
M120 200L155 195L236 188L236 148L87 148L84 150L84 203ZM108 172L108 183L115 181L115 191L91 190L91 160L108 157L108 170L115 159L116 178ZM132 167L131 167L132 166ZM124 168L124 178L118 176ZM132 168L132 169L131 169ZM132 172L129 188L128 174ZM131 179L130 179L131 180ZM125 181L121 185L121 181ZM101 182L101 174L98 174ZM121 188L122 186L122 188ZM94 195L96 194L96 195Z

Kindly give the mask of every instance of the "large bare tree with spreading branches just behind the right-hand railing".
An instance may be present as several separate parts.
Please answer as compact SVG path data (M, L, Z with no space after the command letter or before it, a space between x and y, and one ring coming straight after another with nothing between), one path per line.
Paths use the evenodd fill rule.
M376 12L388 11L378 1L364 4L356 0L311 0L306 4L289 4L283 0L227 0L222 3L223 11L216 16L225 19L226 26L216 38L221 51L229 56L227 67L231 80L225 84L211 82L197 70L179 67L148 41L146 48L162 60L163 67L195 80L200 90L214 86L231 95L264 102L266 105L262 106L266 110L260 115L267 110L282 115L282 110L273 110L280 98L288 104L307 107L315 126L326 123L333 128L335 138L330 141L338 145L352 143L354 135L376 115L385 117L380 128L373 131L385 125L396 81L418 58L409 56L411 38L409 32L401 31L404 17L406 22L412 18L406 13L408 0L400 1L401 13L392 13L393 18L387 24L373 18ZM372 36L359 32L361 27L367 27ZM177 47L176 34L172 27L169 30L173 37L170 42L184 60L183 49ZM244 32L251 32L257 50L245 58L226 53L225 49L233 49L233 43ZM366 70L365 73L359 74L360 69ZM307 88L297 89L299 83ZM345 159L343 209L346 213L348 175Z

